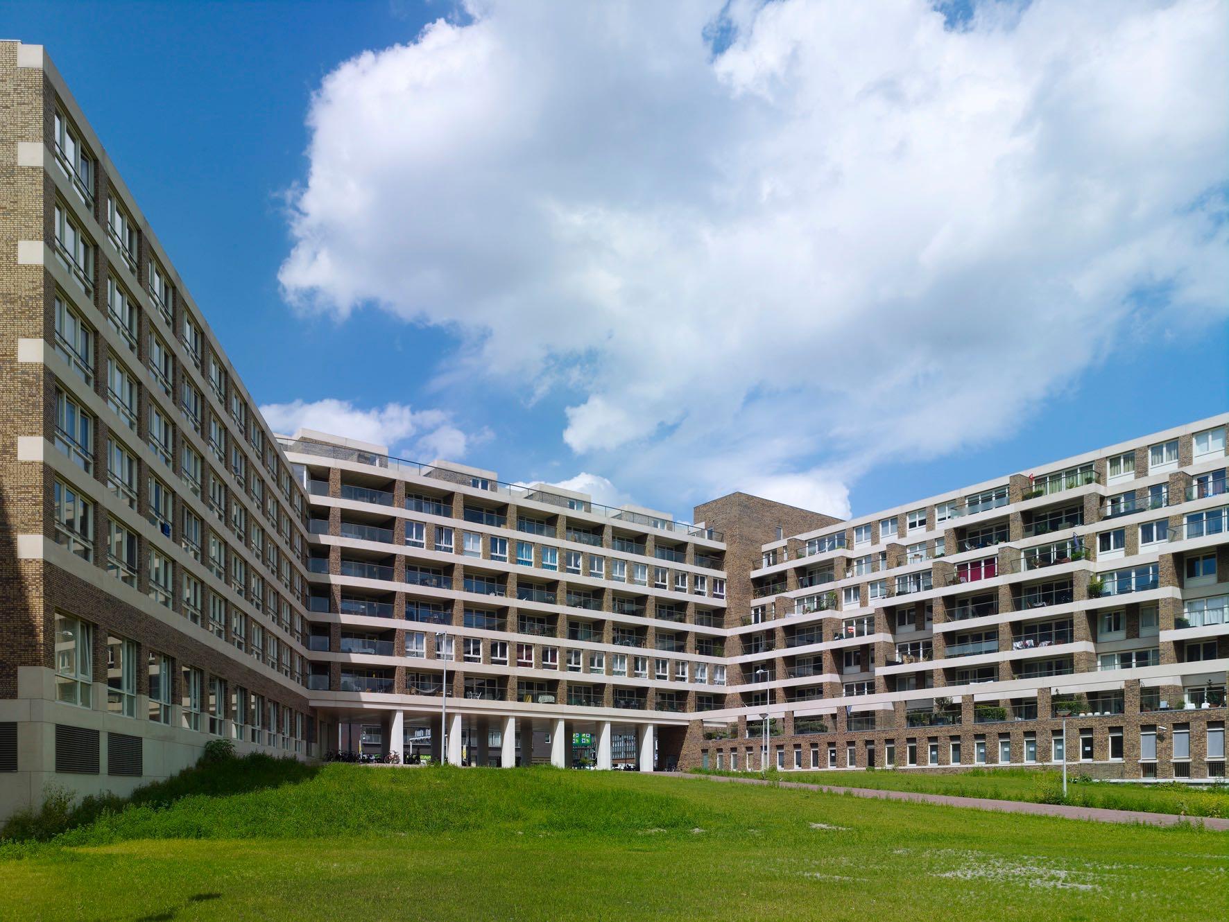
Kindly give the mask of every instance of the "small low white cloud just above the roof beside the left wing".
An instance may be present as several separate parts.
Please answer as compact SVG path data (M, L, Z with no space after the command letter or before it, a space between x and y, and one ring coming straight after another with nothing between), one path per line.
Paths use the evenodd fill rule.
M288 404L265 404L261 413L269 426L283 435L294 435L299 428L313 428L360 442L372 442L393 449L412 446L415 459L460 459L474 441L484 441L485 432L477 440L457 428L451 416L442 410L412 410L398 403L360 409L349 400L326 398L307 403L294 400Z

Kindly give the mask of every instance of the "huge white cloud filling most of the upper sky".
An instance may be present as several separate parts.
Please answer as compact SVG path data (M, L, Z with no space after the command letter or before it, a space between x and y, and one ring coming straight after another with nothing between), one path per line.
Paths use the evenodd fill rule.
M721 7L474 4L340 65L285 292L567 385L564 441L622 484L831 509L1127 330L1224 317L1225 5L744 0L714 55Z

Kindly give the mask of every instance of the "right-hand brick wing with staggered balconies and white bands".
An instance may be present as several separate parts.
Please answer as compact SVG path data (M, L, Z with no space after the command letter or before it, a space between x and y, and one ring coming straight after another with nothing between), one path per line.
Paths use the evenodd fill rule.
M766 543L685 764L1223 778L1227 422Z

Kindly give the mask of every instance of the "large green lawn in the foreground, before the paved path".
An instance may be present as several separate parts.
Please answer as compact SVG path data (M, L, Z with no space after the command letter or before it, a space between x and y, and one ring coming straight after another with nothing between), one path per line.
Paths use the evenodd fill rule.
M1186 826L630 772L226 771L0 846L0 918L1208 920L1229 870L1229 835Z

